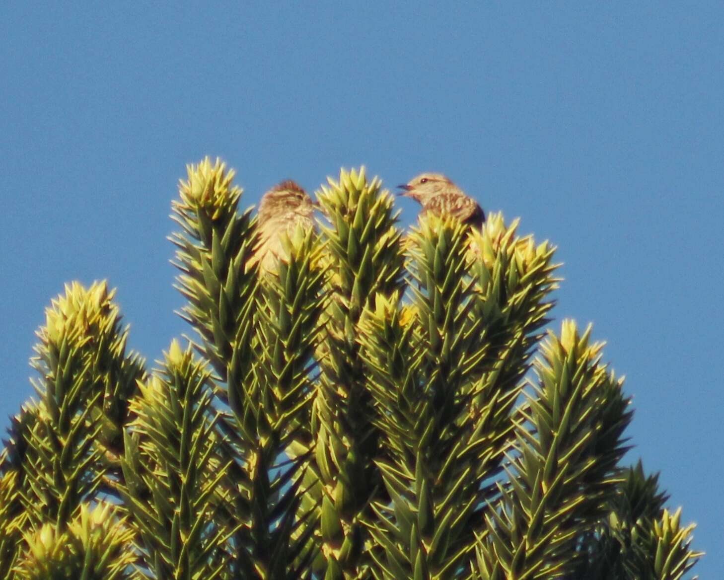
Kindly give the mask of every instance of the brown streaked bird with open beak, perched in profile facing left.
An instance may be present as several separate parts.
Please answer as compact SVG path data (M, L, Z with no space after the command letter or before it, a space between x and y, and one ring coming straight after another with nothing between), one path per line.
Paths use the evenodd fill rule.
M473 198L458 188L445 175L421 173L411 182L397 185L405 190L402 196L413 198L422 205L422 214L428 211L436 216L456 217L480 230L485 222L485 212Z

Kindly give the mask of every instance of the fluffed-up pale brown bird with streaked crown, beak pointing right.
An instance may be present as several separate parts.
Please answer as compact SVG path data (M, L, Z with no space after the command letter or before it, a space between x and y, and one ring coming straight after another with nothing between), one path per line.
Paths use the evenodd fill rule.
M283 235L292 235L297 224L313 228L314 204L306 191L292 180L274 185L259 202L257 229L259 244L248 265L258 262L262 272L277 269L277 260L286 258Z

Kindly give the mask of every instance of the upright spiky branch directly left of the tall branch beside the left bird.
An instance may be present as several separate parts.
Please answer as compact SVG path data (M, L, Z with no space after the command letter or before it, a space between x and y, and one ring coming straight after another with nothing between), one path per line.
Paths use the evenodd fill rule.
M171 343L166 360L132 400L135 416L122 461L124 499L151 578L219 578L233 530L215 521L229 500L219 482L228 465L216 453L205 363Z

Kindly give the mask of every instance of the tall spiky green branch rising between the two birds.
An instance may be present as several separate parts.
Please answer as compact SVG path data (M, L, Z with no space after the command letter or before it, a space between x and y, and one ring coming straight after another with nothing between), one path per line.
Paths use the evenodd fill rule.
M317 353L321 377L311 419L314 439L308 443L319 484L307 501L321 506L315 570L332 580L356 578L366 570L361 520L383 488L374 463L379 431L365 388L358 323L375 296L403 286L403 256L392 196L382 183L368 182L363 169L342 170L338 181L328 181L319 192L328 221L321 228L329 262L328 300Z

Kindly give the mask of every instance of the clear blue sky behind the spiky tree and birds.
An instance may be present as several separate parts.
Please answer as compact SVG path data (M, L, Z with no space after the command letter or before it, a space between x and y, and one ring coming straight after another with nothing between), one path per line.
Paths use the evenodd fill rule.
M559 246L556 324L607 341L628 457L723 576L724 4L43 4L0 7L0 427L64 282L117 287L150 361L188 331L165 239L185 164L221 156L243 206L340 166L445 172Z

